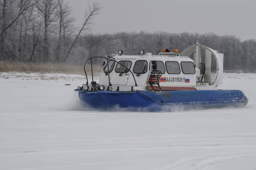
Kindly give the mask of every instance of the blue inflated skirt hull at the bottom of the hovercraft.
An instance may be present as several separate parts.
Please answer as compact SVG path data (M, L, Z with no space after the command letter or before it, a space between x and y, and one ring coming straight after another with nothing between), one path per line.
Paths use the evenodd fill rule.
M203 109L243 107L248 99L240 90L190 90L190 91L82 91L79 99L93 108L111 109L142 108L147 111L171 110L172 108Z

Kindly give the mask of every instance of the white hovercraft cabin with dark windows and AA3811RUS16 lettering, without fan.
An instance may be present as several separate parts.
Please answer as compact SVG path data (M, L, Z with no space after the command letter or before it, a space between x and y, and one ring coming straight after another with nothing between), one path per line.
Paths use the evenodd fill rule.
M196 85L195 66L192 59L186 56L164 55L116 55L117 62L122 63L134 74L138 86L148 86L148 77L152 72L152 61L157 62L161 71L160 86L193 86ZM129 70L114 61L109 61L109 78L112 85L134 86L134 79ZM106 75L107 74L107 75ZM100 73L99 84L108 85L107 63Z

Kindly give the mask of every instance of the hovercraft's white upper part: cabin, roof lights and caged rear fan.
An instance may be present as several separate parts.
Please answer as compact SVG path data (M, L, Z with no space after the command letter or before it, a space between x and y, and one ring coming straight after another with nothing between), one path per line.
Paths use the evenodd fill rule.
M141 55L122 53L119 50L103 64L99 77L103 90L217 90L222 83L223 54L198 41L181 55L176 49L173 53L163 49L158 55L143 50ZM84 84L83 89L88 89L88 85Z

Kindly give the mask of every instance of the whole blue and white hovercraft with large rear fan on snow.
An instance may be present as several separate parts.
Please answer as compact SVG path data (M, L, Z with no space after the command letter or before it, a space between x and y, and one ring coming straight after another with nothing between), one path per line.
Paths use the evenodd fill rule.
M94 58L102 58L99 82L93 81ZM92 81L85 70L91 63ZM248 99L240 90L220 90L223 54L197 41L182 53L163 49L158 55L118 54L91 57L84 64L86 84L78 86L79 99L93 108L202 109L243 107Z

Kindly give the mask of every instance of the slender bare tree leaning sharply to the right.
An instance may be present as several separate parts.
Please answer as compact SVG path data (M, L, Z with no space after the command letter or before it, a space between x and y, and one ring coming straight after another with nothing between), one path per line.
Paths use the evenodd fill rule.
M75 38L75 40L74 40L74 42L72 43L71 47L69 48L69 51L68 51L68 53L67 53L65 59L63 60L63 63L67 61L67 58L68 58L68 56L69 56L69 54L70 54L70 52L71 52L73 46L75 45L75 43L76 43L76 41L77 41L77 38L79 37L80 33L81 33L83 30L88 30L88 29L90 29L88 26L89 26L90 24L92 24L91 21L92 21L92 19L93 19L93 16L99 14L99 10L100 10L101 8L102 8L102 7L100 6L100 4L99 4L99 3L96 3L96 2L93 3L93 6L92 6L92 7L89 5L89 12L85 14L85 18L86 18L86 19L85 19L85 22L83 23L83 25L82 25L80 31L78 32L78 34L77 34L77 36L76 36L76 38Z

